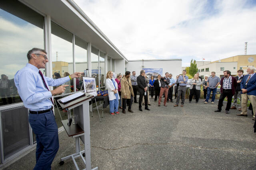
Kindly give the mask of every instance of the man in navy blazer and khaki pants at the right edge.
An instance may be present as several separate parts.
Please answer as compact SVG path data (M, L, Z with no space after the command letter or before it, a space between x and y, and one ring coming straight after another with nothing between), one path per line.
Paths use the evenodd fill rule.
M256 111L256 68L254 66L248 67L247 72L240 83L241 97L242 97L242 112L237 114L238 116L247 116L247 102L250 99L253 108L253 117L255 117Z

